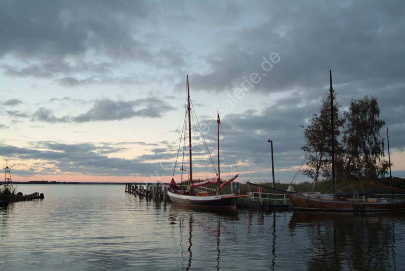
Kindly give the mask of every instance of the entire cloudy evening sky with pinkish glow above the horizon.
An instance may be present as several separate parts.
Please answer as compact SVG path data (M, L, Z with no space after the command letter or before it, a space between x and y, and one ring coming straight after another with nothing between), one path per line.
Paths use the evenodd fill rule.
M270 138L290 182L329 69L342 110L378 98L405 177L403 1L0 0L0 24L0 159L15 181L170 180L189 74L215 163L221 114L223 175L256 181L261 164L270 180ZM213 175L204 158L196 176Z

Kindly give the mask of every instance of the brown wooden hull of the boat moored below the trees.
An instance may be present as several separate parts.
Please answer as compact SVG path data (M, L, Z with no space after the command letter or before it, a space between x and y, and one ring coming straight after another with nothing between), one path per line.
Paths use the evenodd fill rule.
M290 194L294 210L309 211L343 211L343 212L376 212L405 210L405 201L394 202L349 202L339 200L322 200L308 198L301 194Z

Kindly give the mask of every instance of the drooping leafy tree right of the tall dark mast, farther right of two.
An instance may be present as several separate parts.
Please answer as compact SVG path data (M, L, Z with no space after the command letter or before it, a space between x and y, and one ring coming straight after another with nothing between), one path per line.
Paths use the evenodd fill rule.
M380 108L373 96L352 100L345 112L345 171L360 181L376 180L387 173L388 162L381 159L384 157L384 139L380 136L385 122L379 118Z

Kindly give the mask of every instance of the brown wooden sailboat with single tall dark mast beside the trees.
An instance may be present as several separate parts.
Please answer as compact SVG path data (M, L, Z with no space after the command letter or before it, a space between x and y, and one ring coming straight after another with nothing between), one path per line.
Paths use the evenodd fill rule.
M393 211L405 210L405 200L390 198L347 199L338 197L335 192L335 131L333 113L332 71L330 76L331 125L332 125L332 187L331 194L289 193L294 210L310 211ZM387 133L388 134L388 133ZM389 187L388 187L389 188ZM395 189L392 188L391 189Z

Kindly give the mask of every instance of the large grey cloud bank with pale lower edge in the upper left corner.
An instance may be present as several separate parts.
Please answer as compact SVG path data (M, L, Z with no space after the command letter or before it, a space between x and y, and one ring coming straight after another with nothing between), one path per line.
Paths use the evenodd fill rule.
M23 59L24 64L1 67L10 76L54 79L74 87L123 80L105 75L111 73L112 66L129 61L171 70L184 66L183 54L174 44L152 48L149 41L142 40L141 25L149 14L152 18L157 15L157 11L150 12L154 6L143 1L119 5L108 1L3 1L0 23L7 27L0 33L0 60L12 56ZM106 61L98 62L94 57L85 61L89 55ZM81 71L104 77L73 76Z

